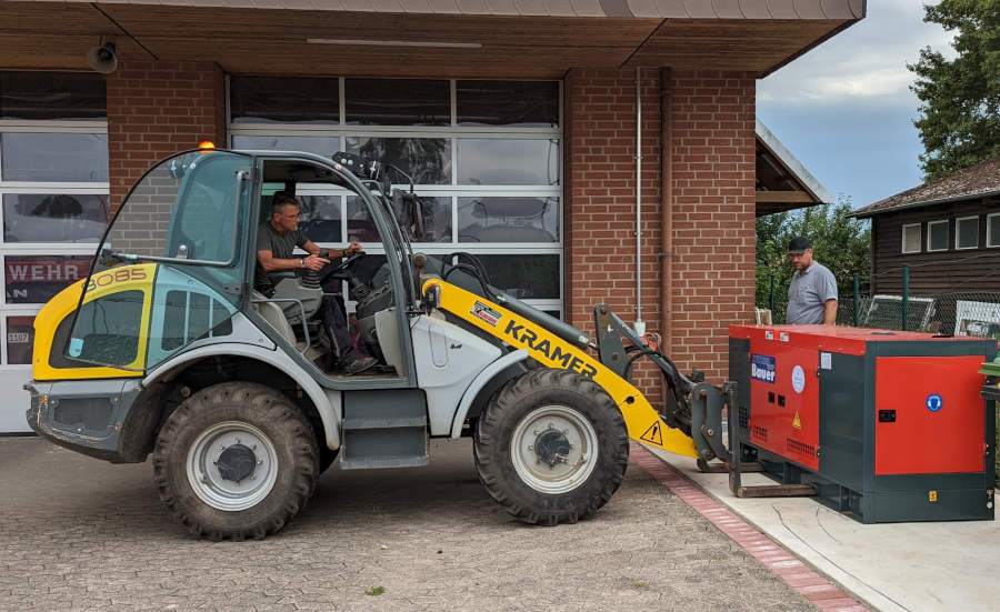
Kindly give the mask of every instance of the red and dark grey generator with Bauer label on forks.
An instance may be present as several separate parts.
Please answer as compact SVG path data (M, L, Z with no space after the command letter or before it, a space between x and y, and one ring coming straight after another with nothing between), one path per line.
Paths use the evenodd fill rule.
M733 463L811 485L862 523L993 519L997 341L826 325L731 325Z

